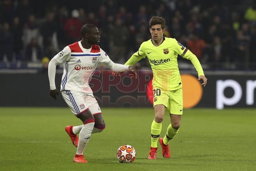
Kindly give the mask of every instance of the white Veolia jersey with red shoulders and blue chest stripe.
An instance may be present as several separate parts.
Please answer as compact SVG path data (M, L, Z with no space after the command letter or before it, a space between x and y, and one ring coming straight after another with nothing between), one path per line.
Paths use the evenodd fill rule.
M66 46L59 54L54 56L58 63L63 63L64 71L61 81L61 91L74 90L86 94L92 94L89 86L90 79L99 62L114 64L109 56L98 46L92 45L85 49L81 41ZM128 69L128 67L124 68Z

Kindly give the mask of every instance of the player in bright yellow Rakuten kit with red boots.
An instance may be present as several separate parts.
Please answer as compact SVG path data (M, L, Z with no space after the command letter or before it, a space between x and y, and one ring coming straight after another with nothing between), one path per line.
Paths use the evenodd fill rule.
M198 73L198 80L202 79L204 81L203 86L206 86L207 78L204 76L199 60L190 50L175 38L163 36L165 20L162 17L152 17L149 26L152 39L144 41L139 50L131 56L125 65L133 66L145 56L149 59L153 71L152 87L155 118L151 125L151 148L148 159L156 159L157 157L157 141L162 130L165 108L170 113L171 124L167 128L166 135L164 138L160 138L159 142L163 157L170 158L168 144L178 133L183 112L182 81L177 62L178 54L192 62ZM116 74L118 73L113 73L113 75Z

